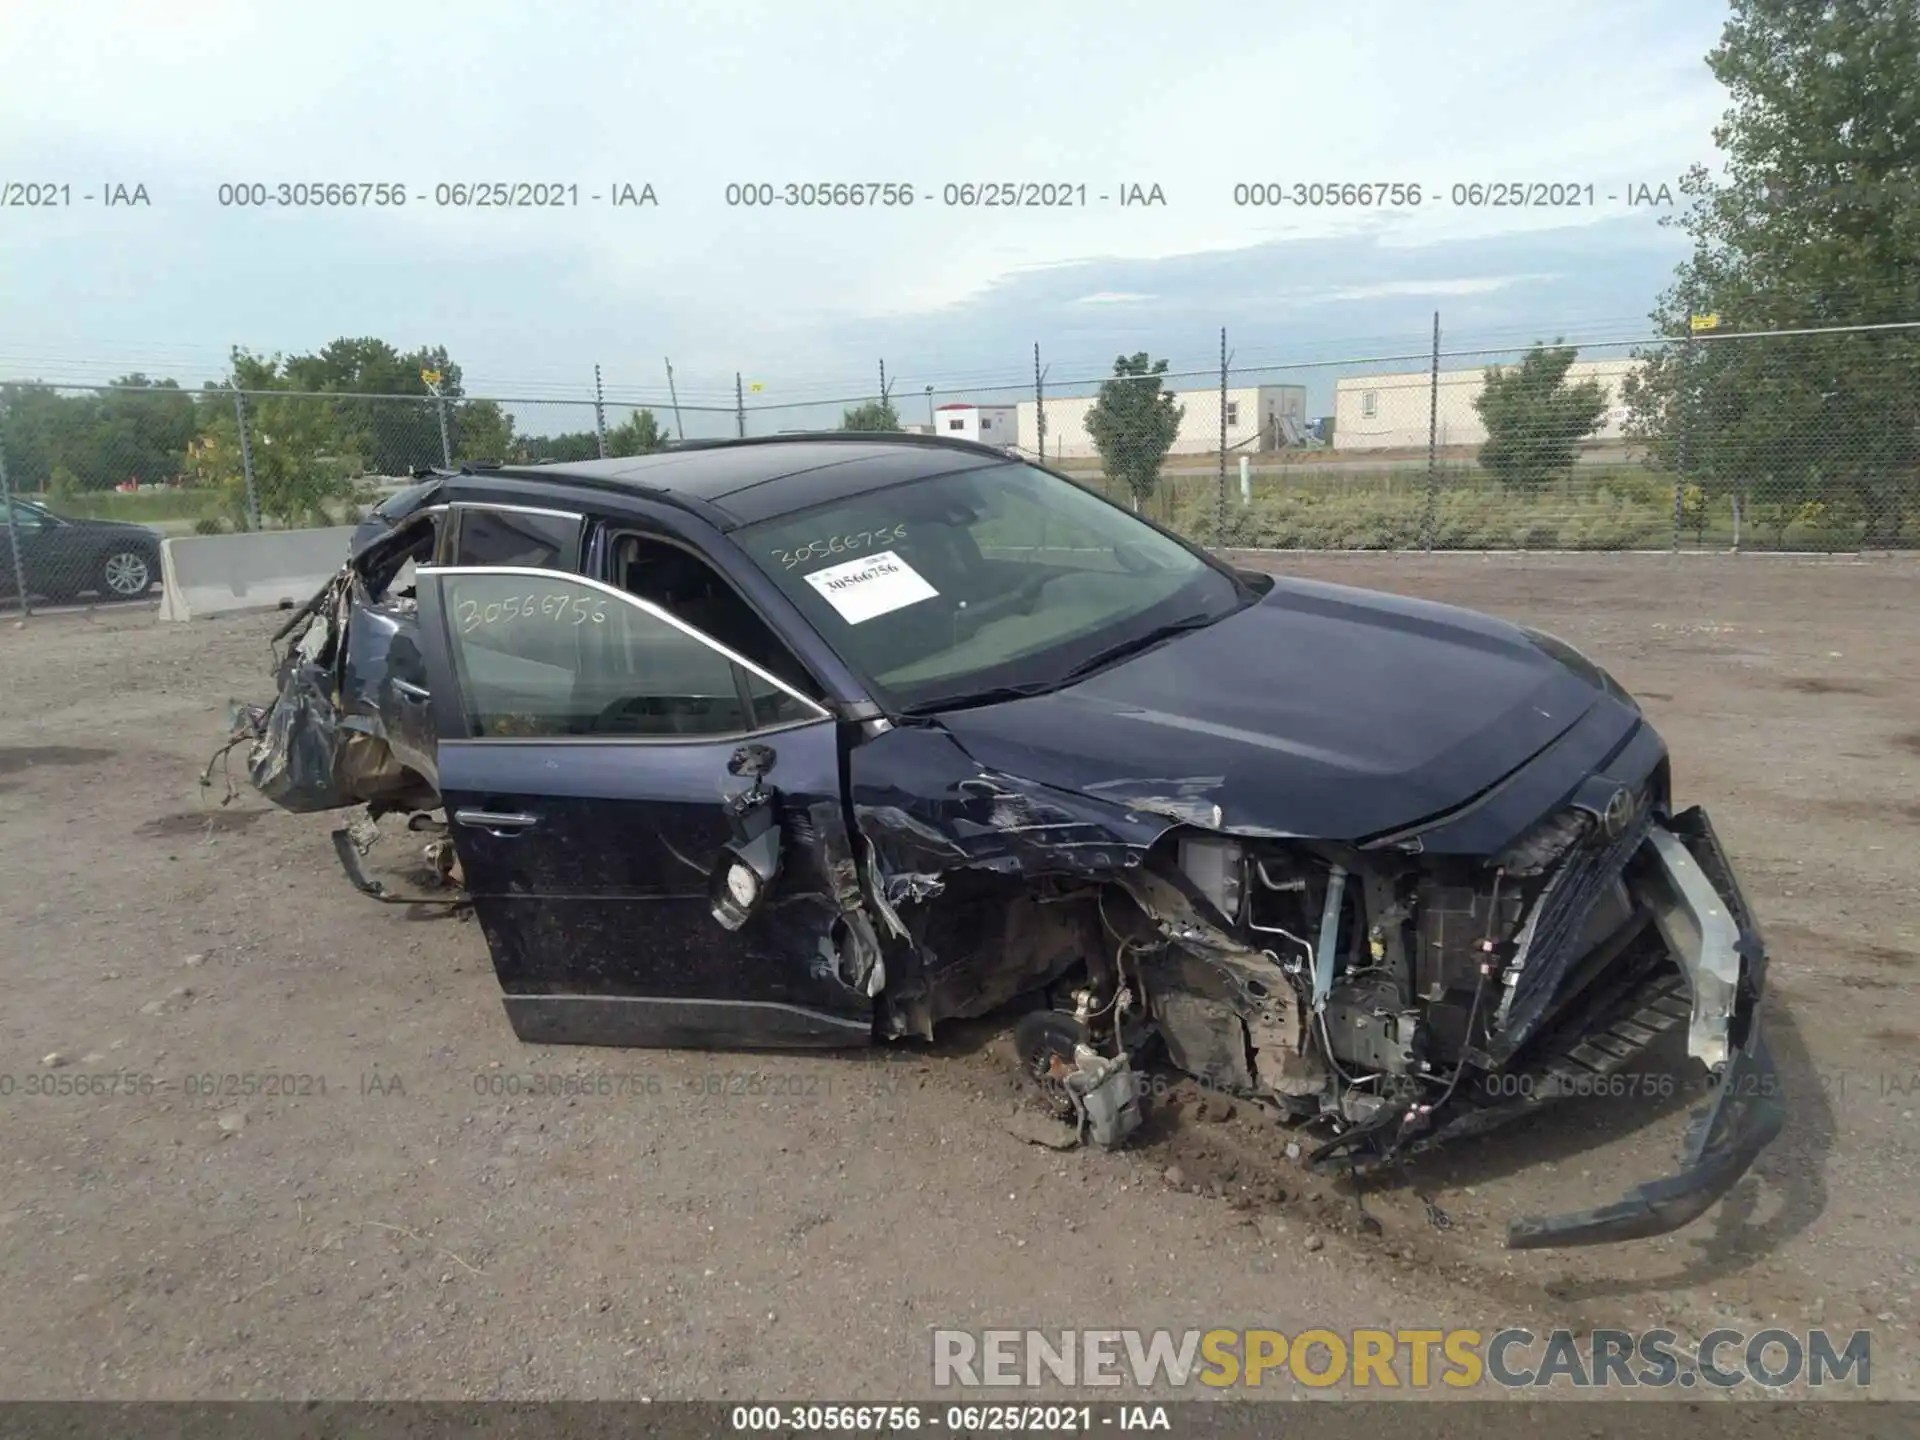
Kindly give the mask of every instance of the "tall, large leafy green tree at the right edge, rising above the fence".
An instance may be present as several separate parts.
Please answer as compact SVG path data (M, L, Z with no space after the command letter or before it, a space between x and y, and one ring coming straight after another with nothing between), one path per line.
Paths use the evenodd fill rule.
M1920 6L1734 0L1707 56L1730 108L1724 175L1682 180L1693 242L1653 323L1674 344L1628 386L1630 428L1776 536L1807 515L1903 543L1920 499ZM1718 326L1690 338L1690 319Z

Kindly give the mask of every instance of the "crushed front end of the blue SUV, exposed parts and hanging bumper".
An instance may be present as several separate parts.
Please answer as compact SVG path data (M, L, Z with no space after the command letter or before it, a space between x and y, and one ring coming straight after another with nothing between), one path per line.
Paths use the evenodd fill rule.
M1596 778L1496 856L1183 831L1133 881L1171 941L1140 989L1181 1069L1323 1123L1363 1173L1619 1077L1680 1031L1716 1079L1680 1169L1617 1204L1509 1225L1511 1248L1678 1229L1784 1121L1759 1023L1766 956L1703 810L1665 762ZM1651 1089L1649 1089L1651 1092Z

